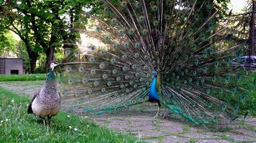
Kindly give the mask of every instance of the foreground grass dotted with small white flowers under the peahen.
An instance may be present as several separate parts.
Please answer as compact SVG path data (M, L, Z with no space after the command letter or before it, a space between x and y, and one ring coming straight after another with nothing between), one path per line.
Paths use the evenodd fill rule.
M27 97L0 88L1 142L141 142L66 112L52 118L47 132L40 119L27 114L28 102Z

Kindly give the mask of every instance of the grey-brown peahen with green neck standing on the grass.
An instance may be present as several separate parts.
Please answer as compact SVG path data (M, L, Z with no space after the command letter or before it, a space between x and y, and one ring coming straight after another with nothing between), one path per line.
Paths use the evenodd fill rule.
M55 62L50 64L50 71L47 74L44 87L35 93L27 108L28 114L35 114L43 119L47 129L50 125L51 117L58 114L60 110L60 95L56 88L55 73L53 71L55 66L58 66ZM48 123L45 122L46 118Z

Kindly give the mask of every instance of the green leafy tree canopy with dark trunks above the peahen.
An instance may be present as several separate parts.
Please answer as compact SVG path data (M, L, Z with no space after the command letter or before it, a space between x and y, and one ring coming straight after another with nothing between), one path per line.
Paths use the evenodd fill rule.
M24 41L34 72L40 54L45 54L45 66L54 60L53 54L63 47L75 47L87 16L84 8L93 1L0 1L0 30L14 31Z

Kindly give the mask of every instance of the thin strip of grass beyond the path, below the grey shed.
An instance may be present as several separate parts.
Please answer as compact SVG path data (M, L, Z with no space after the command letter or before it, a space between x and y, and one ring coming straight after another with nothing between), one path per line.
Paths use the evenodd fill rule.
M0 74L0 82L4 81L36 81L45 80L46 74Z

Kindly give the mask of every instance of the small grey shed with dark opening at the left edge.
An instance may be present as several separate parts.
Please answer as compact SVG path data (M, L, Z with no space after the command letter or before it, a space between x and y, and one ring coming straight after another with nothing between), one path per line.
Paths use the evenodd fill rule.
M23 59L0 57L0 74L23 74Z

